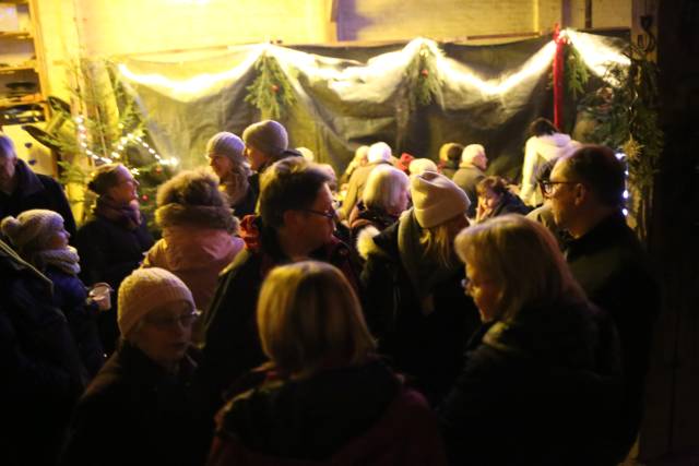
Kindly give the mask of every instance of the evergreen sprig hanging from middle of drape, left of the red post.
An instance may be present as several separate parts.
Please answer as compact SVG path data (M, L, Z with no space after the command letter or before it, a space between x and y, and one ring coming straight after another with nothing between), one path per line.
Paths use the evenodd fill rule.
M441 98L441 80L437 68L437 57L433 48L422 44L415 57L405 68L404 76L407 81L408 103L411 110L418 106L426 107Z

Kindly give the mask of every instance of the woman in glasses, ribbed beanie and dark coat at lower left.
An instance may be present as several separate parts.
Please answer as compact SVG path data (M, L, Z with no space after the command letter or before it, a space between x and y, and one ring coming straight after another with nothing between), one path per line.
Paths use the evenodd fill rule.
M170 272L139 268L123 280L122 337L75 408L62 465L203 464L211 420L193 384L198 315Z

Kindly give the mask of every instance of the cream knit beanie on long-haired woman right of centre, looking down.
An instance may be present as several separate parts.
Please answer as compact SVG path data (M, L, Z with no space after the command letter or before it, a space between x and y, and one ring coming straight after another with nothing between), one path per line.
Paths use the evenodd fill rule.
M431 228L459 214L465 214L471 205L461 188L434 171L411 177L411 195L415 217L423 228Z

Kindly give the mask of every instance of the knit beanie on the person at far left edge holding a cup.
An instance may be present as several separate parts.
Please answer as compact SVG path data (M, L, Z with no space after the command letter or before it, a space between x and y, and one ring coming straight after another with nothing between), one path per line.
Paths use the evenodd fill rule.
M45 208L25 211L16 218L9 216L2 219L0 229L17 250L42 249L52 232L63 227L60 214Z

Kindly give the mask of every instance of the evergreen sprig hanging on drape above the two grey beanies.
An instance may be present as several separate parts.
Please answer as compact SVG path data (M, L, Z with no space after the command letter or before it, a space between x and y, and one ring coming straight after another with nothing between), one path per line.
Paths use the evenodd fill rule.
M276 58L263 52L257 63L258 76L247 87L245 101L262 112L262 119L281 120L295 101L294 92Z

